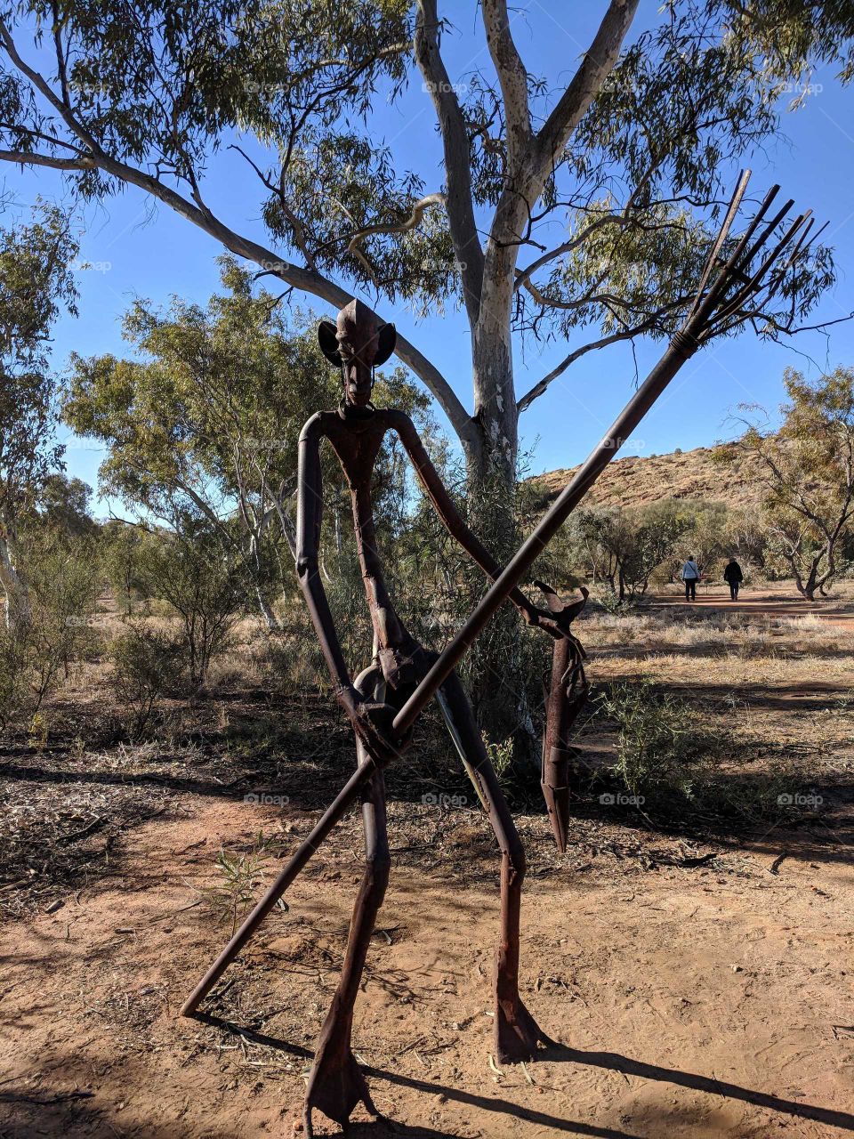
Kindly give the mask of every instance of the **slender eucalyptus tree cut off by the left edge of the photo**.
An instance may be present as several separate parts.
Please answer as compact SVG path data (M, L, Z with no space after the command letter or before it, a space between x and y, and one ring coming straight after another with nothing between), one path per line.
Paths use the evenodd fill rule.
M59 312L74 310L76 252L55 208L0 229L0 587L9 630L27 614L16 554L20 523L61 459L48 343Z

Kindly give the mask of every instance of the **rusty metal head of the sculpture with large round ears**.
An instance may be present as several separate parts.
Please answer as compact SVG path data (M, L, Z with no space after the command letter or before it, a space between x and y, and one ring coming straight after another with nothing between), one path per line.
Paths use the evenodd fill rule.
M351 301L340 310L335 325L330 320L320 321L318 342L327 360L342 369L344 402L366 407L373 387L373 369L394 352L397 342L394 325L383 325L367 304Z

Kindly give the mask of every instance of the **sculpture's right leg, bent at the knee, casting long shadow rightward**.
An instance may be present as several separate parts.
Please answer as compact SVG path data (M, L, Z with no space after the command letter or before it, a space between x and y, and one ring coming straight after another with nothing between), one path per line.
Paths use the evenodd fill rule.
M537 1026L519 997L519 910L525 878L525 851L510 809L499 787L471 705L454 673L438 696L442 713L466 768L477 780L490 822L501 849L501 940L495 954L495 1055L504 1064L531 1060L537 1044L552 1041Z

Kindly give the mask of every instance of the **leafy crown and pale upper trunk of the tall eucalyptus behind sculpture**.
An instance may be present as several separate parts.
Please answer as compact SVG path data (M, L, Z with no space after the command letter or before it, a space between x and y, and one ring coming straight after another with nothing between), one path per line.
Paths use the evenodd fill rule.
M417 345L399 337L397 352L447 415L473 483L498 470L509 486L519 413L558 375L676 326L722 181L778 132L780 92L805 87L816 63L840 63L843 80L851 71L852 0L667 0L643 26L638 0L596 8L569 73L548 75L523 59L507 0L470 11L438 0L2 0L0 159L63 171L90 198L137 187L335 308L353 294L435 316L460 305L469 404ZM446 63L454 18L485 60L461 75ZM573 25L573 6L527 18ZM413 81L442 170L407 170L377 126ZM212 205L206 175L227 147L257 175L266 240ZM759 330L794 330L830 279L819 249ZM526 337L567 351L517 392Z

